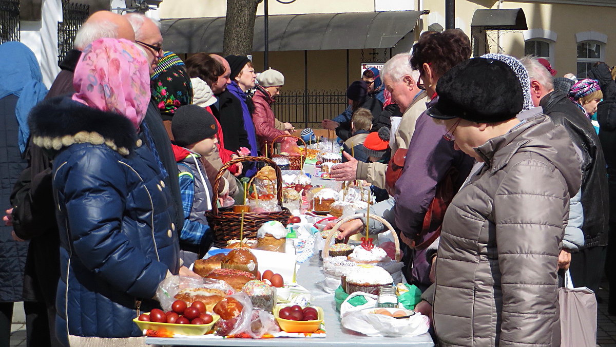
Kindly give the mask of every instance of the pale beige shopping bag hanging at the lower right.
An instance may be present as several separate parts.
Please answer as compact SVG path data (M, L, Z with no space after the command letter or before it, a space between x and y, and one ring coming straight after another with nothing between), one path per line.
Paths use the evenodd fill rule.
M597 298L586 287L573 288L569 270L565 287L558 288L561 309L561 346L594 347L597 345Z

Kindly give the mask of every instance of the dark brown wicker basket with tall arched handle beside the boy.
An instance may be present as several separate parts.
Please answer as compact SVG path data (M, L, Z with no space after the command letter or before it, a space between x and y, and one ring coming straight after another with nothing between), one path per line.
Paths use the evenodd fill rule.
M269 158L264 157L240 157L227 161L222 166L216 180L214 180L214 202L218 200L218 189L222 180L222 175L225 170L237 163L250 163L255 161L262 161L272 166L276 171L277 176L277 189L276 197L278 205L282 207L282 173L280 168L274 164ZM240 227L241 227L241 212L233 212L233 206L218 208L218 205L214 203L211 211L206 213L208 217L209 226L214 234L214 246L224 248L227 246L227 241L240 239ZM279 221L285 227L288 224L291 212L286 207L282 207L280 212L246 212L244 213L244 237L247 239L256 239L257 231L267 221Z

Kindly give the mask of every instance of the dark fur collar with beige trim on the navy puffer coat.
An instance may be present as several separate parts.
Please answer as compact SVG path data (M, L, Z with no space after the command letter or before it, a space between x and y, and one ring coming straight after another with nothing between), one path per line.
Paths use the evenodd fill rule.
M32 142L47 150L89 143L105 144L121 155L129 155L141 142L124 116L87 107L70 97L55 97L36 105L28 124Z

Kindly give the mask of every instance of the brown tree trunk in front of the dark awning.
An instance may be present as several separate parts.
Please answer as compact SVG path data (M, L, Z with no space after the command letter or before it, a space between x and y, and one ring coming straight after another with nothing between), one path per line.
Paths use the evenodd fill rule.
M254 18L262 0L227 0L227 20L222 54L248 55L253 52Z

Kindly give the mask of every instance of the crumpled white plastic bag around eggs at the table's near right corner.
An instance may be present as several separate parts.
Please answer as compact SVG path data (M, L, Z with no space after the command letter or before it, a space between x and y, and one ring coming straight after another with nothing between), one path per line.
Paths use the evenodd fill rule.
M383 314L354 311L342 317L341 324L346 329L368 336L414 337L428 332L430 320L419 313L397 319Z

